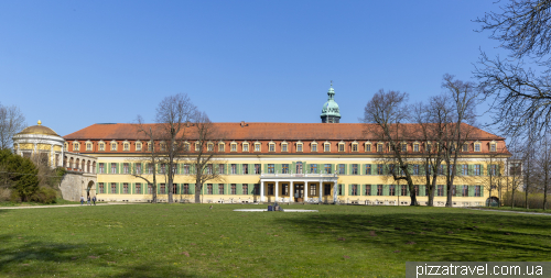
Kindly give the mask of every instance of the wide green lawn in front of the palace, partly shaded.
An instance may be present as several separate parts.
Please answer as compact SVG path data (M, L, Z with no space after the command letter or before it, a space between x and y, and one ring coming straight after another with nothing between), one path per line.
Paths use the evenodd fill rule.
M549 260L551 216L426 207L0 210L0 276L403 277L407 260Z

